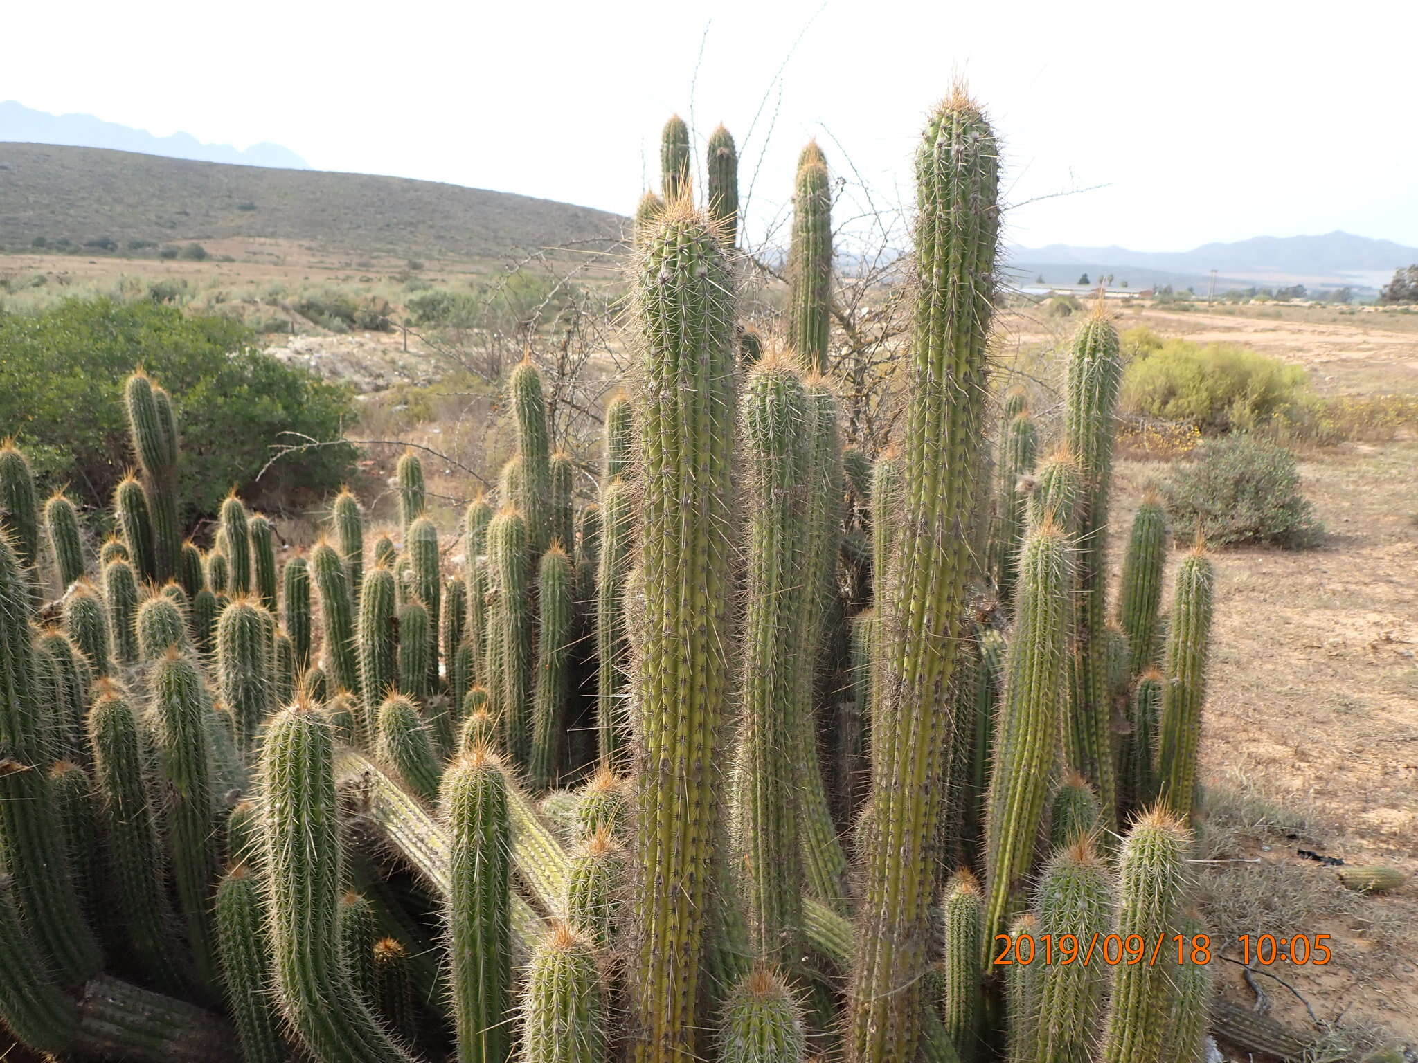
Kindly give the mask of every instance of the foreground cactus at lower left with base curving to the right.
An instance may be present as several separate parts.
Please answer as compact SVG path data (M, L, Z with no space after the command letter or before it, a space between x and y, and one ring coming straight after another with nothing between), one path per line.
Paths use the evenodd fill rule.
M354 996L340 964L340 818L335 750L319 709L296 703L277 713L261 747L261 788L265 931L286 1022L319 1063L411 1063Z

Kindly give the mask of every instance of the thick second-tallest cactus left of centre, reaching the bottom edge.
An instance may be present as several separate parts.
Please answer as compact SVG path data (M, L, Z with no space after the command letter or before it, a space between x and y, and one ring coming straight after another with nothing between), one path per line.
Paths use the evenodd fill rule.
M635 1063L686 1063L709 911L727 709L733 546L733 298L713 225L671 204L637 261L644 495L641 763L628 948Z

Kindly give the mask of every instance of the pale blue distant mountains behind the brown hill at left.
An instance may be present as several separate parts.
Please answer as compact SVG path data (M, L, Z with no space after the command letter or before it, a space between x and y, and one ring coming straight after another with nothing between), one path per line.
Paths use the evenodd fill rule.
M269 166L282 170L309 169L301 156L281 145L259 143L240 150L231 145L204 145L190 133L153 136L143 129L104 122L92 115L48 115L13 99L0 102L0 140L109 147L118 152L160 154L167 159Z

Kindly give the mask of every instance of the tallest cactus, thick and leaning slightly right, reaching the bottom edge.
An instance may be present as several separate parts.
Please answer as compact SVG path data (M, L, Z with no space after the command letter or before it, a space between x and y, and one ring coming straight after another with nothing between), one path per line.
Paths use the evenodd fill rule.
M951 740L951 720L940 706L970 571L966 532L976 503L994 308L998 156L988 122L963 91L932 115L916 156L922 285L902 437L909 493L892 560L902 575L883 602L891 653L872 727L873 845L849 991L852 1063L909 1059L920 1035L925 926L934 893L930 850Z

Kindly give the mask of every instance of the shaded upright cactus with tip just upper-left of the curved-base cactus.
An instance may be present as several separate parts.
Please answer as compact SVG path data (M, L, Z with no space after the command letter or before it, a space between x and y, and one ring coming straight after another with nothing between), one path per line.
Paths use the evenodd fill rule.
M149 729L157 750L157 787L177 901L206 985L217 984L211 889L217 879L217 823L207 720L211 706L201 673L177 646L153 663Z

